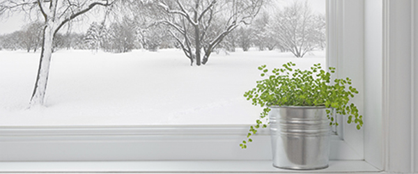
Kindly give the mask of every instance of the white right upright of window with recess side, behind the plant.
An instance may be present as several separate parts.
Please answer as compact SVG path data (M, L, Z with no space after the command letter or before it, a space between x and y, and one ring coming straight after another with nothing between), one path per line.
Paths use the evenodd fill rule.
M359 91L353 102L364 116L364 0L329 1L327 65L336 68L333 78L350 77ZM347 118L343 118L347 119ZM355 152L357 159L364 159L364 129L339 120L343 129L343 141Z

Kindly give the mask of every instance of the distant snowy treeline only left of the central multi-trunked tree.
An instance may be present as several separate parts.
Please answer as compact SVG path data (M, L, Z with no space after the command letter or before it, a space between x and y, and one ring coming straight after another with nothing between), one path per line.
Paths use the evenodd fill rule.
M36 52L42 46L42 22L31 22L19 31L0 35L0 50ZM59 49L91 49L122 53L132 49L174 48L176 42L167 35L162 26L138 27L133 19L124 17L122 22L110 25L93 22L86 33L56 33L54 51ZM164 34L166 33L166 34Z

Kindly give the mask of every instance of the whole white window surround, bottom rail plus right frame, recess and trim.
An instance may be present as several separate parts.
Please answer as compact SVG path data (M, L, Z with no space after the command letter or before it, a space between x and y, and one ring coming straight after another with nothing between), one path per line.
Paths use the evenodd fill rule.
M414 133L418 125L418 119L415 119L418 116L415 111L418 106L418 102L415 102L418 98L418 61L415 61L418 58L415 52L418 34L414 34L418 31L418 8L414 1L328 0L328 8L337 9L330 11L332 16L329 15L328 20L339 24L330 26L332 30L329 32L336 33L331 33L335 37L329 38L332 44L329 44L327 63L339 70L338 77L350 74L349 77L363 93L356 97L355 103L365 119L362 131L348 125L343 127L342 139L333 139L333 144L339 145L332 145L332 150L339 153L331 159L343 160L331 161L330 168L335 169L332 169L334 173L344 170L364 172L361 168L366 165L369 165L366 168L374 168L366 170L368 172L418 172L415 167L418 166L418 134ZM22 164L32 165L32 169L26 168L29 172L42 172L43 169L39 169L42 165L46 168L49 166L44 171L61 165L47 161L174 160L176 163L201 160L209 161L207 165L218 162L218 166L237 164L238 168L245 169L250 165L257 166L257 161L269 163L270 138L267 130L254 137L254 143L247 150L239 148L238 144L247 129L247 125L0 127L0 173L13 171L10 168L16 169ZM72 164L76 168L86 168L91 163ZM130 164L121 163L125 166ZM98 172L86 169L88 172L92 170ZM272 170L266 169L265 172L288 172ZM74 170L65 169L64 165L60 172L71 171ZM124 171L120 168L116 172ZM199 169L195 172L199 172ZM210 172L210 169L206 172ZM218 172L240 170L225 169Z

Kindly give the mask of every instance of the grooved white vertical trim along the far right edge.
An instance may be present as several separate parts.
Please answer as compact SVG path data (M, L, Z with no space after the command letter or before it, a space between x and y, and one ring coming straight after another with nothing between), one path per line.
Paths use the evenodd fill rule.
M383 115L385 169L417 172L416 0L384 0ZM387 8L386 8L387 7Z

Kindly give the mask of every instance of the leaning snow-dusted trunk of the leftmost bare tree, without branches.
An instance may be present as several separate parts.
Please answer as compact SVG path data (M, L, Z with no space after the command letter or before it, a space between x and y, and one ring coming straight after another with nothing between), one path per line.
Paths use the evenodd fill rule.
M46 24L43 30L42 50L40 53L40 63L38 75L36 77L35 88L31 97L30 105L43 105L47 81L49 76L49 65L52 57L52 41L54 40L54 31L52 25Z

